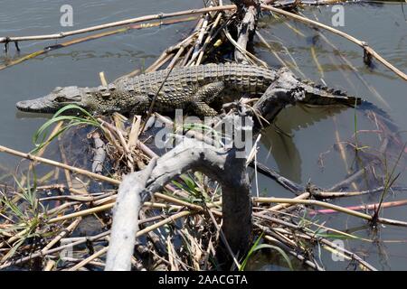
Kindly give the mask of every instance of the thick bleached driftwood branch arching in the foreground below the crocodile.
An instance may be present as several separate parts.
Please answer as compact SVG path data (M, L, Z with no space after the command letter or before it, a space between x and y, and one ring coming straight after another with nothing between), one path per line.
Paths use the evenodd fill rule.
M134 213L138 211L139 204L134 201L135 194L141 195L141 200L147 200L151 193L163 189L179 174L188 170L204 172L213 180L222 184L222 230L233 252L247 249L251 241L251 193L246 173L246 159L237 157L237 149L225 151L213 146L197 142L193 139L184 138L182 144L175 146L173 150L156 160L153 166L140 172L133 172L126 180L146 180L146 188L141 185L135 186L133 191L120 191L119 194L129 196L131 200L121 199L117 203L113 218L112 235L109 245L107 268L109 270L123 270L130 266L129 260L134 246L137 230ZM122 188L122 186L120 186ZM131 207L131 208L129 208ZM122 215L123 214L123 215ZM117 218L116 216L121 216ZM116 225L118 222L123 224ZM113 232L119 228L125 229L126 233ZM124 228L123 228L124 229ZM130 252L131 251L131 252ZM114 258L112 257L114 256Z

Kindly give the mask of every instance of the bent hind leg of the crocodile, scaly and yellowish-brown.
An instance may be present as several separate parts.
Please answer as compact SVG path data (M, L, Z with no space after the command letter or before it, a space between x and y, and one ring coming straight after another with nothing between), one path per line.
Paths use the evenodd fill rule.
M209 83L198 89L189 104L194 113L199 117L217 116L218 112L210 107L209 104L220 95L223 89L224 83L222 81Z

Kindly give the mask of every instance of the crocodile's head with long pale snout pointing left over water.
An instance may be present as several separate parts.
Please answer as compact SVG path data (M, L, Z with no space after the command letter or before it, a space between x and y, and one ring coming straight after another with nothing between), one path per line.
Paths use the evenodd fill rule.
M78 87L56 88L43 98L19 101L16 107L19 110L36 113L55 113L66 105L77 105L88 108L86 101L86 89Z

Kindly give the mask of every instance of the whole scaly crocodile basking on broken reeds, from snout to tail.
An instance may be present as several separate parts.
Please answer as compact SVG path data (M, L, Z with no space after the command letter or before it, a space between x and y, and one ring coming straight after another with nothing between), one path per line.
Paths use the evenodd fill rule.
M279 83L279 86L270 90L273 83ZM58 87L42 98L19 101L16 107L27 112L54 113L75 104L93 114L139 115L145 113L155 99L154 110L158 113L180 108L206 117L218 115L211 107L215 99L222 100L222 96L260 97L266 91L276 93L279 98L283 96L292 102L310 105L355 106L361 100L346 96L340 90L302 81L287 69L229 63L157 70L97 88Z

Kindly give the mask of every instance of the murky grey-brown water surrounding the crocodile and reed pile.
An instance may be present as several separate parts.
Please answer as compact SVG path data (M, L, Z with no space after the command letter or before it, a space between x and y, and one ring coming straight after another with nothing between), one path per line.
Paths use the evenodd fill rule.
M156 1L139 0L105 0L105 1L45 1L45 0L3 0L0 6L0 36L32 35L55 33L71 30L60 26L60 7L64 4L73 6L73 29L79 29L99 23L119 19L197 8L202 1ZM331 7L307 8L304 14L323 23L331 23ZM288 25L289 24L289 25ZM386 5L345 5L345 26L340 30L368 42L384 58L403 71L407 71L407 33L406 20L401 4ZM131 70L149 65L166 47L179 41L194 27L192 23L177 23L161 28L152 28L129 33L117 34L96 41L83 42L0 71L0 144L21 151L33 149L33 132L43 124L45 117L17 113L15 102L27 98L42 96L56 86L97 86L99 71L105 71L109 80ZM300 70L308 79L320 82L336 89L345 89L349 94L363 96L377 107L383 108L401 131L406 130L407 101L405 101L406 82L398 79L392 72L375 63L374 69L366 68L363 63L363 51L355 44L324 33L359 71L365 83L374 87L383 99L378 98L368 89L359 77L344 64L332 47L327 45L317 32L302 23L276 20L268 16L260 23L260 33L279 51L284 60L289 56L284 47L297 61ZM22 53L38 51L54 44L54 41L20 43ZM313 45L314 43L314 45ZM313 50L311 50L313 47ZM270 64L279 66L279 62L259 41L255 46L257 55ZM312 55L317 56L317 61ZM0 54L0 65L18 58L13 45L8 55ZM321 72L318 67L322 68ZM355 115L357 121L355 122ZM306 184L308 181L329 188L346 177L346 169L355 166L355 157L348 154L344 163L337 149L337 137L341 141L351 139L357 129L374 129L372 121L364 111L352 108L308 108L290 107L284 110L276 125L288 135L281 135L270 127L262 135L262 147L259 160L275 168L294 182ZM339 135L339 136L338 136ZM359 139L361 144L374 145L377 135L366 134ZM373 136L372 136L373 135ZM401 138L402 139L402 138ZM405 139L405 138L404 138ZM380 143L380 142L379 142ZM378 146L380 144L377 144ZM394 148L394 151L397 147ZM322 154L327 153L327 154ZM52 149L46 156L52 155ZM402 160L403 161L403 160ZM0 154L0 164L5 168L14 168L18 160ZM405 183L402 170L398 183ZM260 193L270 196L292 197L279 185L260 176ZM352 189L352 188L350 188ZM405 193L390 194L386 201L405 199ZM360 205L377 202L380 194L368 197L355 197L335 201L341 205ZM385 209L386 218L407 220L405 207ZM315 217L319 223L327 221L327 226L347 230L360 238L376 239L372 244L363 240L344 240L350 250L364 256L368 262L379 269L406 269L407 229L381 227L375 233L365 222L344 215ZM329 254L322 259L328 269L345 269L348 262L334 262ZM267 259L259 256L252 268L267 269Z

